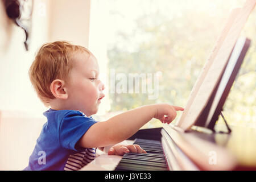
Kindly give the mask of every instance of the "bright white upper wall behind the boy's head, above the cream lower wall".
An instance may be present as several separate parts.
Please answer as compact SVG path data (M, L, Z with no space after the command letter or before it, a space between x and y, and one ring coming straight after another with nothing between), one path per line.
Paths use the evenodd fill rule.
M0 2L0 110L43 111L28 78L36 49L48 39L48 16L37 13L39 3L48 5L48 1L35 1L32 18L31 44L29 51L24 48L24 31L7 18L2 1Z

